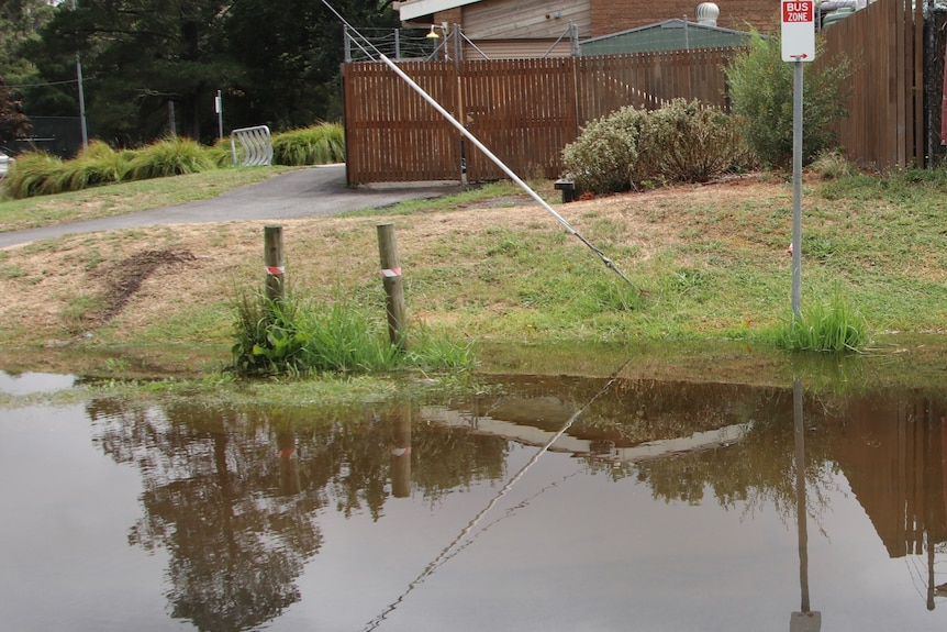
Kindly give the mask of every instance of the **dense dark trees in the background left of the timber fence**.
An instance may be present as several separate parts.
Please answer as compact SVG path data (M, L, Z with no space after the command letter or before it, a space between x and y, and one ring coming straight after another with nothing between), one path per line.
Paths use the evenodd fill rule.
M337 0L352 24L394 26L389 2ZM36 19L27 19L35 15ZM0 76L32 117L78 114L112 146L172 131L211 142L214 98L227 130L304 127L341 115L343 27L322 2L32 0L0 3Z

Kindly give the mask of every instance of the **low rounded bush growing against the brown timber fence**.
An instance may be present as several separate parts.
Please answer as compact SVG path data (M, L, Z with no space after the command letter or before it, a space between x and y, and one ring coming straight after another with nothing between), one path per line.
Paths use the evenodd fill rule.
M676 99L653 112L627 107L592 121L562 160L579 189L605 193L704 182L753 158L718 108Z

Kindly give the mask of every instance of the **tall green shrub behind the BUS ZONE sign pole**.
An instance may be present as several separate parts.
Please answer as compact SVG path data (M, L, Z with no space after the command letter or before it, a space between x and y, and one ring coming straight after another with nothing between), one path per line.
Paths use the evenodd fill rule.
M822 59L825 40L816 36L816 64L805 64L802 160L809 164L837 142L832 123L847 115L854 64L845 55ZM782 60L779 34L755 33L747 49L725 69L733 112L759 158L772 166L792 164L793 65Z

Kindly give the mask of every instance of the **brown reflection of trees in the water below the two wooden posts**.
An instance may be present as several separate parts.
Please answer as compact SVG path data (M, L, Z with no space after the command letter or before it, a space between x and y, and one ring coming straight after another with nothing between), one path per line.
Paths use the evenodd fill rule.
M413 472L436 500L498 478L508 450L499 437L422 426L413 441L432 458L412 468L404 407L345 423L308 411L136 409L115 400L97 400L87 412L101 448L135 463L144 479L146 515L130 542L168 550L172 617L209 631L254 628L298 601L294 581L322 544L317 511L334 505L345 515L380 518L387 453L394 497L408 495Z

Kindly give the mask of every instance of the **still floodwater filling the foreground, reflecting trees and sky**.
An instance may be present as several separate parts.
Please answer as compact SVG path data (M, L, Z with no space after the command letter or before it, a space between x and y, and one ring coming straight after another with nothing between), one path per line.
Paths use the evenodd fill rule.
M482 381L0 411L3 629L947 629L947 390Z

